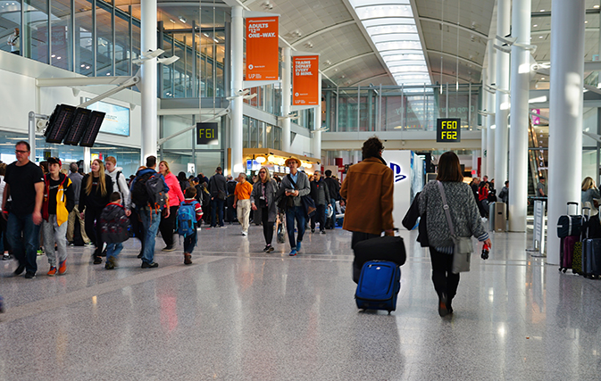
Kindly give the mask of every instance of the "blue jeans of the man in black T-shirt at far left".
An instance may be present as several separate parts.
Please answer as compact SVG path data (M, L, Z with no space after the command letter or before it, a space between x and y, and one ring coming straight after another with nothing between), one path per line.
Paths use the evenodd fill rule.
M6 236L19 266L25 266L26 271L35 274L38 271L39 225L33 223L33 214L9 213Z

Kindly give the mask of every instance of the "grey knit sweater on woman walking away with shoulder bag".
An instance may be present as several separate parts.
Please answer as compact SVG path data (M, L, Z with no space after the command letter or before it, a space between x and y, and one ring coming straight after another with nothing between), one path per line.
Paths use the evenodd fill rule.
M445 188L455 234L457 236L475 236L479 241L487 240L488 233L482 226L472 188L460 182L443 182L442 185ZM434 248L452 247L453 239L436 181L430 181L423 187L419 205L420 214L427 213L426 230L430 246Z

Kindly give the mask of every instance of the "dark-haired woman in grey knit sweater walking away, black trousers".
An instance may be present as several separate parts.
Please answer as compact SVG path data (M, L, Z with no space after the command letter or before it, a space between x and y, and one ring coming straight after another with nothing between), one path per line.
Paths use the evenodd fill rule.
M440 181L445 189L455 234L457 236L476 236L480 242L490 246L490 239L486 229L482 226L472 188L463 183L463 173L459 158L455 153L447 152L440 156L437 181ZM451 302L457 293L459 274L454 274L452 271L455 247L437 181L430 181L423 187L419 205L420 215L426 213L426 230L432 261L432 282L438 294L438 314L447 316L453 312Z

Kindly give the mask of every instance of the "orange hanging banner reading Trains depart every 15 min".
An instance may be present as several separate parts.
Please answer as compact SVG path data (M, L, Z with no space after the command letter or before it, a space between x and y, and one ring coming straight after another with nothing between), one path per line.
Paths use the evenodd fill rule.
M292 105L316 106L319 104L319 55L292 57Z

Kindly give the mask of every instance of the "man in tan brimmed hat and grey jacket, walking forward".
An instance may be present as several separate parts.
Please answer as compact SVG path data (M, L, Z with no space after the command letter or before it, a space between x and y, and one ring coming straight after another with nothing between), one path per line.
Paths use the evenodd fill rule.
M301 197L311 193L311 186L305 172L298 170L300 161L296 157L289 157L285 164L290 169L290 173L281 180L276 199L283 196L289 197L288 207L286 208L286 228L288 229L288 241L290 242L290 256L295 256L301 249L306 226L306 211ZM296 228L298 229L296 240L294 236L295 219Z

